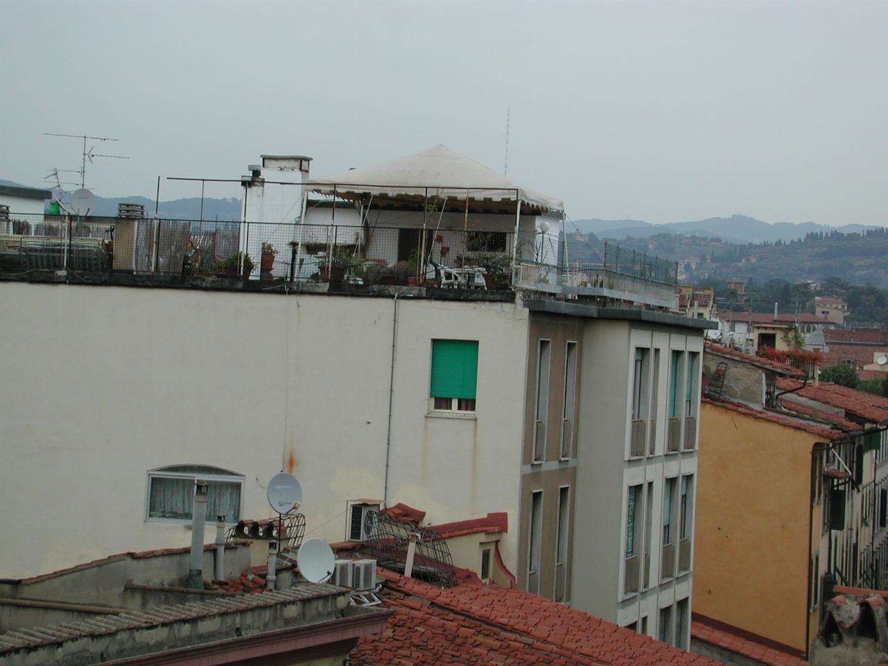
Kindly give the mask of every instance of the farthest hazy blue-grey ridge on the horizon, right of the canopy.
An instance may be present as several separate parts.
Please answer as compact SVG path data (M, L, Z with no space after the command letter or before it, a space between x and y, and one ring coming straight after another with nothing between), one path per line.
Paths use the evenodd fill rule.
M732 215L730 218L707 218L693 222L669 222L653 225L640 219L578 219L573 223L584 234L595 234L601 239L622 241L625 238L647 238L657 234L685 234L702 236L703 238L718 237L725 242L760 243L789 242L804 238L805 234L828 233L841 231L844 234L860 234L867 229L878 226L848 225L829 226L815 222L799 225L789 222L763 222L746 215ZM572 227L568 225L568 230Z

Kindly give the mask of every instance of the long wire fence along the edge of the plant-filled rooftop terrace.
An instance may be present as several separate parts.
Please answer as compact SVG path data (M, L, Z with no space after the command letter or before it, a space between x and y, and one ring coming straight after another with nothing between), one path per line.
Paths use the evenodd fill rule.
M516 240L517 239L517 240ZM15 214L0 218L0 274L75 271L266 281L503 289L607 274L675 285L678 266L606 243L603 262L562 263L563 236L418 226L305 225ZM569 256L569 254L568 254Z

